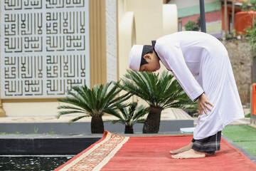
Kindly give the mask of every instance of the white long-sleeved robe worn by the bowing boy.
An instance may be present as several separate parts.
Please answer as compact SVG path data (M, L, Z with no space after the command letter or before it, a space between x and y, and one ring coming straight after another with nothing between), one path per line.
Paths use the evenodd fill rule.
M181 31L156 40L161 62L171 70L191 100L203 92L213 104L198 117L193 138L207 138L244 118L228 51L217 38L198 31Z

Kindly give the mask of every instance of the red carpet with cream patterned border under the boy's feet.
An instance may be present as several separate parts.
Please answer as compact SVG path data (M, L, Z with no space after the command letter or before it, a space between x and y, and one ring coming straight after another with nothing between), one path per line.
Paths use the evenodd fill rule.
M220 151L198 159L173 159L170 150L188 145L193 135L124 137L105 131L101 140L56 170L256 170L254 162L221 139Z

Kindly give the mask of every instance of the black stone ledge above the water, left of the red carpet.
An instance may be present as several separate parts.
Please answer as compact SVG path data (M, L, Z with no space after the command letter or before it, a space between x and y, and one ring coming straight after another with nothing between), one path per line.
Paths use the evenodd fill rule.
M0 155L77 155L100 137L4 138L0 139Z

